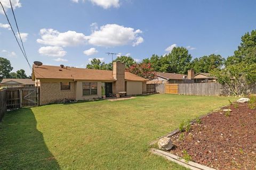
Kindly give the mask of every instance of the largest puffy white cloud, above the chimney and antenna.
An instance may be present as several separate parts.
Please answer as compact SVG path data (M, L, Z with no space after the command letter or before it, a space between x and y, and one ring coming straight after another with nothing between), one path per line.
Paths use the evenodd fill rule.
M100 30L87 36L88 42L95 46L123 46L132 45L137 46L143 42L143 38L139 36L141 30L134 30L130 27L123 27L117 24L106 24L100 27Z

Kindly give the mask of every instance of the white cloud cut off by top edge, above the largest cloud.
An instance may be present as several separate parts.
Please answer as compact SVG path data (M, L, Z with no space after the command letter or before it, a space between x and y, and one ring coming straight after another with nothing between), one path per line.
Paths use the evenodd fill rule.
M78 3L79 1L85 2L85 0L71 0L74 3ZM94 5L101 6L105 9L110 8L110 7L119 7L119 0L88 0Z

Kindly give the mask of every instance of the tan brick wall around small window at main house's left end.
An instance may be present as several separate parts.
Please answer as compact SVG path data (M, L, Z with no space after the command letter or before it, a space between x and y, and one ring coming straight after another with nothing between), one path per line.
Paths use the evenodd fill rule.
M75 82L70 82L70 90L60 90L60 82L40 83L40 105L61 103L76 99Z

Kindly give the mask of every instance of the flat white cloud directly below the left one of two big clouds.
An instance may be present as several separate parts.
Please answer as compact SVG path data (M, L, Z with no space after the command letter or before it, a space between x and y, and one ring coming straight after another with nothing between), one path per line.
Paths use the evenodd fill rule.
M65 50L61 47L41 47L38 49L38 53L46 56L52 56L52 57L63 57L67 54Z

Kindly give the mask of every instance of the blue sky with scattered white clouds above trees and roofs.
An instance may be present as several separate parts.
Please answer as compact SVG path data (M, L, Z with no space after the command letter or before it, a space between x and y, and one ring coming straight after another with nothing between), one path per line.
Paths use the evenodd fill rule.
M186 47L195 57L233 55L241 36L256 28L256 1L238 0L11 0L28 60L85 67L107 52L136 61ZM0 0L15 33L9 0ZM0 10L0 56L13 71L28 64ZM116 58L116 56L114 56Z

